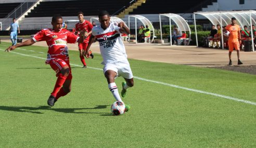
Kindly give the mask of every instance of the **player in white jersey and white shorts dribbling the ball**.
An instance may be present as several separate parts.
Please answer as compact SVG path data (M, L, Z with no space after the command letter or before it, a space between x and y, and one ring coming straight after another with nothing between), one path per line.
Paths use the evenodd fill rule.
M89 48L95 39L98 39L100 53L103 57L104 75L108 81L108 88L112 92L117 101L122 101L114 79L122 76L125 82L122 83L122 97L126 96L127 88L133 87L133 74L130 64L127 60L124 44L122 42L121 33L130 34L129 28L123 22L110 23L109 13L107 11L100 11L99 26L95 26L92 30L92 36L89 40L84 56L89 56Z

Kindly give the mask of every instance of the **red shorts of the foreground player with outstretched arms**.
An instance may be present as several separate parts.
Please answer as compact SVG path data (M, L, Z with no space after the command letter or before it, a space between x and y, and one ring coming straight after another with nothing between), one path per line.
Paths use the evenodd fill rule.
M61 59L53 59L53 60L49 61L49 64L52 67L52 69L56 72L56 76L59 75L59 73L63 67L69 66L69 75L68 75L67 79L72 79L72 73L71 73L71 67L69 65L69 61L66 62Z

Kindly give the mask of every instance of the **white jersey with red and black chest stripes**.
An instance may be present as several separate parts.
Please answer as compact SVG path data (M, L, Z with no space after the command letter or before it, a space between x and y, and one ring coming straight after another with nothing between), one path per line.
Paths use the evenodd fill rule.
M120 28L116 23L110 23L106 30L100 25L94 26L92 32L98 39L104 64L127 60Z

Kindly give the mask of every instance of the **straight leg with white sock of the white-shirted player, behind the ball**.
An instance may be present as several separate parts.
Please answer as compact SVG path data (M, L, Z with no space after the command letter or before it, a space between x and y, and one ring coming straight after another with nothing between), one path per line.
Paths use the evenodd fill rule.
M116 99L117 101L123 102L119 95L117 84L114 82L114 78L117 76L117 72L108 70L106 68L104 68L104 69L106 70L104 75L108 81L108 88L111 91L114 99Z

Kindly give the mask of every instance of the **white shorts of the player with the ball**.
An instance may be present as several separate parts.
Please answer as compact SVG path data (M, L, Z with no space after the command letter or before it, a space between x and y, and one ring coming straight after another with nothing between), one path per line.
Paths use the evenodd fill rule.
M106 64L103 68L104 74L108 70L116 72L117 73L116 77L122 76L127 79L133 78L133 73L130 68L130 64L127 60Z

